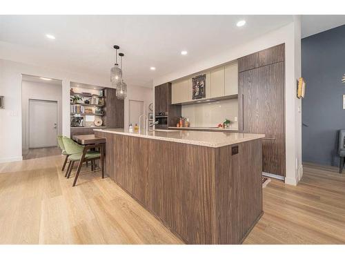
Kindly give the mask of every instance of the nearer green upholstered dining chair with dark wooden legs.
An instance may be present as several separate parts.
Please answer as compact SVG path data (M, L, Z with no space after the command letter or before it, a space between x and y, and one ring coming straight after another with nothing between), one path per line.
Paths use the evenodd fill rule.
M104 178L104 151L103 151L103 144L94 144L94 145L87 145L81 146L71 140L69 137L62 137L63 145L66 148L67 153L73 153L72 155L68 156L68 169L66 171L67 178L70 178L70 173L72 172L73 166L75 162L79 161L77 167L77 173L75 174L75 180L72 186L75 186L77 183L77 179L79 177L79 173L81 170L81 166L83 162L91 162L91 170L95 170L95 160L101 160L101 171L102 171L102 178ZM99 148L99 151L90 151L92 148Z

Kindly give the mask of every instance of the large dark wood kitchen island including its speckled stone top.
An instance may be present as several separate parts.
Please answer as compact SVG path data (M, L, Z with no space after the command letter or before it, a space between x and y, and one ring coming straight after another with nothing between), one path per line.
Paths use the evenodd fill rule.
M106 174L188 244L239 244L262 215L264 135L97 129Z

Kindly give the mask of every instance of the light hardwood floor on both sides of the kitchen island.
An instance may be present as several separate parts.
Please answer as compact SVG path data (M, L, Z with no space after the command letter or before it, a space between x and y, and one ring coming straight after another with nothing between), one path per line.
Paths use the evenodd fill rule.
M0 164L0 244L182 243L100 173L84 173L72 188L62 162ZM264 188L264 215L244 244L314 243L345 243L345 176L305 164L298 186L272 180Z

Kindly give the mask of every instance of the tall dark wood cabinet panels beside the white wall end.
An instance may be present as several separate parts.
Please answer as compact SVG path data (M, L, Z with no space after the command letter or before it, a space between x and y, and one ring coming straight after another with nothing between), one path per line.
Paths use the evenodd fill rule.
M239 73L239 131L265 134L262 170L285 176L284 46L257 53L263 66Z

